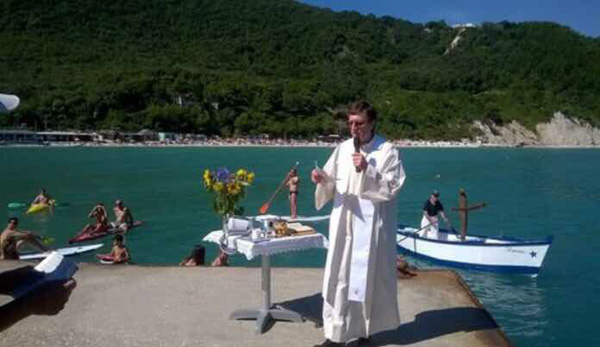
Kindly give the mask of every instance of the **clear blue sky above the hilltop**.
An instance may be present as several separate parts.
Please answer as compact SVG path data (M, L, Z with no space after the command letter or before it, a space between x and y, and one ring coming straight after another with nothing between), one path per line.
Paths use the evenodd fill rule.
M584 35L600 37L600 0L301 0L335 11L392 16L413 23L445 20L448 24L550 21Z

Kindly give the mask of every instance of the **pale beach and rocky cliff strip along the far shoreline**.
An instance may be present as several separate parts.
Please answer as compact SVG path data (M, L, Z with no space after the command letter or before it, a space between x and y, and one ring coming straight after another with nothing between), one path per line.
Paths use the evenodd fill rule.
M600 129L589 123L569 118L561 112L554 113L547 123L536 125L535 130L526 128L516 121L499 125L491 122L475 121L474 139L459 141L435 141L394 139L399 147L414 148L477 148L477 147L539 147L539 148L600 148ZM207 138L202 140L180 136L177 140L166 141L123 141L102 139L100 141L44 141L44 142L6 142L0 145L29 147L334 147L343 138L338 135L334 140L269 139L257 137ZM331 137L330 136L330 137Z

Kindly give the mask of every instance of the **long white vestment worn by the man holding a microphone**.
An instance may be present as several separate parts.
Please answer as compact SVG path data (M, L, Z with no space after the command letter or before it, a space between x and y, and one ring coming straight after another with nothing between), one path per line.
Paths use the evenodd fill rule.
M404 168L398 150L374 136L361 148L357 173L352 139L340 144L317 185L315 207L333 199L323 278L325 338L347 342L400 324L396 284L396 194Z

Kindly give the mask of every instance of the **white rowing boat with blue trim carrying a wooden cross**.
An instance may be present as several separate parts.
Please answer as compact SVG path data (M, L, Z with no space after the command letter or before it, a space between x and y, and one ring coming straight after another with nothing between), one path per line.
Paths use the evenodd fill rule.
M422 237L420 229L398 225L399 251L451 267L537 275L553 236L523 240L514 237L467 235L440 229L437 239Z

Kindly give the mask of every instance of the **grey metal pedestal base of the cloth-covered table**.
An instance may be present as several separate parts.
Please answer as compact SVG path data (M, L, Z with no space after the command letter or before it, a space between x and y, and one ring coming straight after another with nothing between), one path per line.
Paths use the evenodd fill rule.
M261 289L263 302L260 309L235 310L231 313L229 319L256 319L254 330L257 335L265 332L267 323L270 320L283 320L296 323L304 321L302 316L297 312L271 307L271 259L269 255L262 255Z

